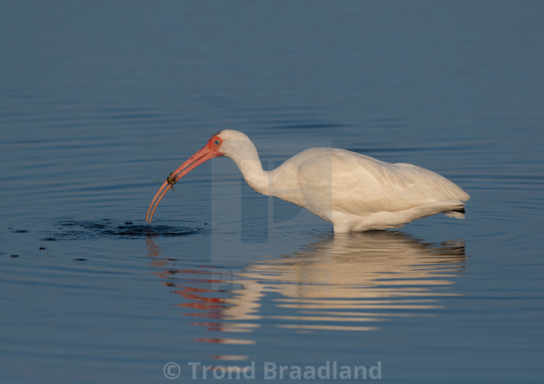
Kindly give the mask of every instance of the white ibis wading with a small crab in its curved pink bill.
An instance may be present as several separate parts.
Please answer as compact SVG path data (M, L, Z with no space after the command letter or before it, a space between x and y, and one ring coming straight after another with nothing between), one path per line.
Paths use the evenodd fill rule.
M146 222L151 223L169 188L191 169L218 156L234 160L255 191L306 208L332 223L335 232L399 228L435 213L463 219L463 202L470 198L428 169L390 164L344 149L307 149L273 171L264 171L249 137L225 129L170 174L155 194Z

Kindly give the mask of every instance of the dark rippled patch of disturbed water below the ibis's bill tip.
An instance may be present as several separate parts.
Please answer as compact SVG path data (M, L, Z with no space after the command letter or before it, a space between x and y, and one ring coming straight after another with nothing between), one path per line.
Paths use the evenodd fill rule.
M97 221L63 221L57 223L59 231L51 237L44 237L43 241L78 240L81 238L146 238L155 236L188 236L199 234L202 229L171 225L134 225L126 221L116 224L109 219Z

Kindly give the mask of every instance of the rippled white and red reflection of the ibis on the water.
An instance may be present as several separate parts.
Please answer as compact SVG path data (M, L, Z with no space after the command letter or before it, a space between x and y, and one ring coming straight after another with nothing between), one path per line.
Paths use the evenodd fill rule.
M299 332L378 330L405 316L435 316L465 266L460 240L425 243L396 231L320 236L301 250L262 256L242 269L176 269L147 238L152 266L184 298L193 324L208 330L252 332L262 323ZM266 305L263 305L266 301ZM199 342L252 344L243 338Z

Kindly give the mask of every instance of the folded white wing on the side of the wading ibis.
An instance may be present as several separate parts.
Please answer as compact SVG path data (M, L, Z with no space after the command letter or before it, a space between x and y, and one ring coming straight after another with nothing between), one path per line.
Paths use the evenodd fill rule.
M291 166L296 163L304 180L305 200L299 205L321 212L318 216L323 218L331 211L365 216L403 211L433 200L469 198L452 181L428 169L390 164L347 150L312 148L289 161Z

